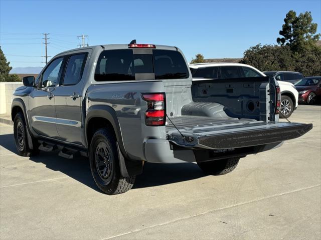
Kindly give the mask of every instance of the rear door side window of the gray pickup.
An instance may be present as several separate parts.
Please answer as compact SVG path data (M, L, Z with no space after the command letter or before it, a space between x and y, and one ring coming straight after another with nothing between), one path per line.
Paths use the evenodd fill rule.
M68 59L64 76L64 85L77 84L84 70L86 53L71 55Z

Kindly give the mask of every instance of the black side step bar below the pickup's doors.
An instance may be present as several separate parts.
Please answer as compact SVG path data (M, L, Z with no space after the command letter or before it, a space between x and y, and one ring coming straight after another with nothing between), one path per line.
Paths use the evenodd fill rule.
M59 150L58 155L67 159L72 159L74 156L81 155L81 156L88 156L85 150L64 146L57 143L46 142L44 140L38 140L40 146L38 147L39 150L42 151L54 151L56 149Z

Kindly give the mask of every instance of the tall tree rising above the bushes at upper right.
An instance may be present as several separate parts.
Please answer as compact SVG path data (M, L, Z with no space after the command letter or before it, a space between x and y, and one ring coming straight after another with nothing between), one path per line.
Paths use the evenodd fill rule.
M312 23L310 11L300 13L290 10L286 13L284 24L279 34L283 37L276 39L280 45L288 45L292 51L302 52L305 47L314 45L320 38L320 34L315 34L317 23Z

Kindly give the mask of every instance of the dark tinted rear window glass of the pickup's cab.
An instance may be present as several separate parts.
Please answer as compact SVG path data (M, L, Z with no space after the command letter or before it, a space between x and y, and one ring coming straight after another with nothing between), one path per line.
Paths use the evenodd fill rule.
M153 49L152 54L133 54L132 49L119 49L100 54L95 80L135 80L135 73L154 73L153 79L189 77L187 64L179 51Z

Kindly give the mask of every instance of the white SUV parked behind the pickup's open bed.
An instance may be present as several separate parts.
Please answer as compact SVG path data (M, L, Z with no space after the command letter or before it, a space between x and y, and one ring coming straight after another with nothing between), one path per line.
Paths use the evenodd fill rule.
M241 63L195 63L190 64L193 81L238 77L266 76L253 66ZM298 105L298 92L295 86L286 81L277 81L281 90L280 118L289 117Z

